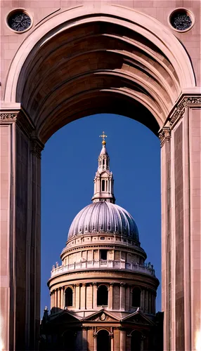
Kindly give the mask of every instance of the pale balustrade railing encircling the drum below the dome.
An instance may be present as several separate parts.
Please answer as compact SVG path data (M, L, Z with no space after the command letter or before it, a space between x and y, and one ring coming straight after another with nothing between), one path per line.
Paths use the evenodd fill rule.
M74 270L129 270L131 272L142 272L153 275L155 277L155 270L153 265L145 263L145 265L138 265L137 263L128 263L123 260L89 260L74 262L70 265L53 266L51 277L65 272L72 272Z

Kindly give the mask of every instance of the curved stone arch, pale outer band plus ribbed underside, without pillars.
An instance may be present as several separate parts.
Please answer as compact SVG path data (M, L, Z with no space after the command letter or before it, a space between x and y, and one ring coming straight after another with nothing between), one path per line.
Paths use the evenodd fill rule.
M58 128L97 112L124 114L157 134L183 89L193 86L185 49L160 22L122 6L77 6L47 18L25 39L5 100L21 103L46 143Z

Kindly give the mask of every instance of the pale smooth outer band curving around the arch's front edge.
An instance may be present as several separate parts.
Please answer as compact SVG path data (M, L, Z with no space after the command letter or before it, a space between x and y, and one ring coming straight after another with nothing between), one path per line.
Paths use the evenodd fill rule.
M78 22L81 24L97 20L101 21L104 15L107 15L104 19L106 22L112 21L118 25L129 27L135 32L143 34L160 48L179 74L181 90L183 88L195 86L193 67L185 49L178 39L174 37L174 34L172 34L167 27L155 20L155 18L151 18L149 15L140 13L134 9L117 5L103 5L98 8L93 8L92 6L76 6L44 20L22 43L13 59L8 74L5 101L15 102L20 70L33 48L34 50L31 53L30 60L32 59L32 55L38 51L39 47L56 36L58 32L62 32L67 27L74 27L78 25ZM82 19L77 21L77 18ZM70 21L70 23L68 23L68 21ZM60 25L58 25L58 23L60 23Z

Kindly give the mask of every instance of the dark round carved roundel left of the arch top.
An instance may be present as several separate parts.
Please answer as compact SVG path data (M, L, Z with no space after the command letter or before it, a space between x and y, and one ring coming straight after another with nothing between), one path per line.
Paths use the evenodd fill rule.
M30 16L23 10L15 10L7 18L8 26L15 32L24 32L32 24Z

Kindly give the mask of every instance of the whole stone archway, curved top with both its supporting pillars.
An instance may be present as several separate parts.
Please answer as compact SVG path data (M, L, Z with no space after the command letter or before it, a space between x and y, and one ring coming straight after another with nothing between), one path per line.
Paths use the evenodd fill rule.
M194 205L193 187L196 189L196 181L190 178L190 174L196 171L196 163L192 161L195 156L189 145L194 136L193 128L197 128L200 107L200 98L194 89L193 67L182 44L160 22L136 10L97 3L95 8L77 6L60 11L32 28L13 58L8 72L1 120L8 129L6 143L9 145L7 150L11 169L8 168L7 173L9 182L11 179L13 182L11 185L8 183L9 205L6 213L11 222L7 225L8 242L13 243L15 238L17 244L11 244L11 250L6 251L7 261L10 260L12 264L6 280L10 290L6 285L5 291L6 298L9 300L10 294L12 301L5 315L7 320L13 321L8 326L9 332L5 332L5 338L9 335L10 348L7 348L13 349L16 333L20 336L18 350L28 350L28 347L24 347L25 334L27 345L36 349L40 287L40 157L43 144L59 128L74 119L108 112L141 121L156 135L162 129L164 347L184 350L185 343L186 350L190 350L190 340L195 338L193 333L195 326L198 330L199 324L195 311L200 308L198 303L198 307L190 304L190 301L198 299L195 298L195 292L188 289L188 282L190 286L194 286L195 282L195 256L190 257L188 249L190 244L193 245L191 233L197 230L197 227L193 227L197 203L193 209L189 207L190 201ZM74 55L70 55L71 45ZM195 119L191 118L192 115L195 115ZM189 126L189 117L193 127ZM168 143L170 137L171 143ZM180 162L176 168L177 159ZM184 160L189 161L189 167L184 164ZM27 176L23 180L20 177L22 171L19 171L21 165ZM27 193L21 191L24 189ZM18 194L23 197L19 198ZM181 206L177 206L180 202ZM171 211L173 216L169 215ZM186 213L185 220L183 213ZM175 217L179 218L176 230ZM27 223L19 218L26 218ZM172 232L177 238L182 231L186 244L179 246L171 240L169 233ZM31 242L33 264L30 259ZM27 243L27 247L22 243ZM186 258L185 265L176 263L176 260L171 261L169 247L173 256L176 249L181 248L182 253L179 254ZM15 274L17 270L13 268L17 261L19 266L26 267L20 276ZM175 273L169 274L173 272L170 270L172 262L174 272L183 267L178 277ZM179 308L179 294L171 286L171 283L175 284L174 278L178 278L176 285L181 286L184 296L181 303L183 309ZM21 282L23 297L18 293L22 288ZM34 296L31 286L37 292ZM25 303L21 304L21 300ZM167 313L169 310L173 312L171 316ZM31 314L30 311L34 312ZM172 341L167 346L167 336L171 333L169 319L174 322L175 312L176 318L179 316L178 323L172 324L174 331L172 338L169 338ZM18 323L18 316L22 316L21 324ZM1 318L4 319L3 314ZM184 328L185 340L176 340L176 333L183 335ZM5 343L8 344L7 339Z

